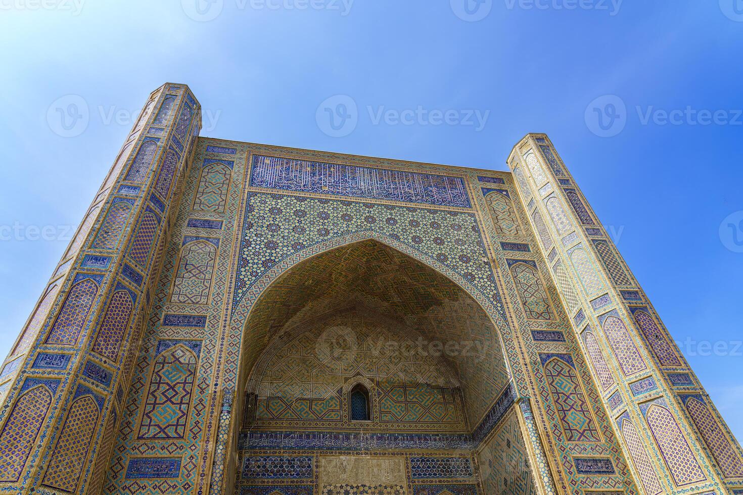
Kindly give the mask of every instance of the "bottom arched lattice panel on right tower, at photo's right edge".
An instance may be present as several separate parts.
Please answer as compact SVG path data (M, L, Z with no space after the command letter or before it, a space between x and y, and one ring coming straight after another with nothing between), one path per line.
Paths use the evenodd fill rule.
M707 401L701 396L692 395L681 396L681 400L724 476L743 477L743 461L707 406Z

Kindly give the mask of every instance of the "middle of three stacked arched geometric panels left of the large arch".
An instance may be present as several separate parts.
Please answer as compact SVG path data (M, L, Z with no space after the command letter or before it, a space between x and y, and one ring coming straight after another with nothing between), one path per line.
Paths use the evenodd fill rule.
M181 263L175 275L171 301L207 304L216 257L216 247L207 240L187 243L181 250Z

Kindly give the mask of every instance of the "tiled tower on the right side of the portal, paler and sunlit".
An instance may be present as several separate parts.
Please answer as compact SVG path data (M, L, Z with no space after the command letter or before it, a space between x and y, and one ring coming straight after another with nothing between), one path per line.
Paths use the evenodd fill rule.
M508 165L637 485L739 493L740 445L548 137L528 134Z

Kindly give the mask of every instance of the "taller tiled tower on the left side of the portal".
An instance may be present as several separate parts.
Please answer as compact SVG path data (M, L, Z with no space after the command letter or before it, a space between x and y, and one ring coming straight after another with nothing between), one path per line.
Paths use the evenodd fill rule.
M186 85L149 96L4 361L4 493L100 493L200 128Z

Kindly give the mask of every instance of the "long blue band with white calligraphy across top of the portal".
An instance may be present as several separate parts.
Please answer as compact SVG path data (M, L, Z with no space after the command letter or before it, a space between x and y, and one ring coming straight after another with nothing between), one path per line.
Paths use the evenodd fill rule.
M253 156L252 165L250 186L429 205L471 206L464 180L459 177L259 154Z

